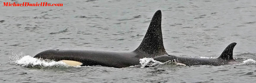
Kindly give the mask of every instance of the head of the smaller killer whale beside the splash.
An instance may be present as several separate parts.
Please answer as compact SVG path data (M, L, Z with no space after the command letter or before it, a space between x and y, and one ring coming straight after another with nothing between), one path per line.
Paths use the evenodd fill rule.
M161 55L153 58L156 61L167 62L169 60L177 59L175 55Z

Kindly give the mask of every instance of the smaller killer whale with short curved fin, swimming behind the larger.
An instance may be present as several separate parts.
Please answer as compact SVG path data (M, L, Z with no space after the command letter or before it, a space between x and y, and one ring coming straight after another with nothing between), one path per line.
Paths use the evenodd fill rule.
M228 64L237 64L233 59L233 49L236 46L236 43L229 44L222 54L218 58L196 58L196 57L179 57L175 55L161 55L153 58L156 61L167 62L171 60L172 62L178 62L185 64L187 66L192 65L228 65Z

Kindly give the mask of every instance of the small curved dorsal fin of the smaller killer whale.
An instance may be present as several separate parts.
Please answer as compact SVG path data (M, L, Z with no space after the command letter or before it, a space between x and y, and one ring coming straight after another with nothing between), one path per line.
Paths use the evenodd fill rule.
M236 43L229 44L218 58L223 60L233 60L233 49L235 46Z

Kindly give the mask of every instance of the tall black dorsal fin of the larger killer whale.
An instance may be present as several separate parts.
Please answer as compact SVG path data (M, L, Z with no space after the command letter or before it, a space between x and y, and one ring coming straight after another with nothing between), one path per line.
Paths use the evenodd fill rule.
M134 50L134 52L144 52L147 54L147 57L167 54L164 49L161 30L161 10L156 11L152 17L146 35L140 43L140 46ZM139 55L139 57L145 57L145 55Z

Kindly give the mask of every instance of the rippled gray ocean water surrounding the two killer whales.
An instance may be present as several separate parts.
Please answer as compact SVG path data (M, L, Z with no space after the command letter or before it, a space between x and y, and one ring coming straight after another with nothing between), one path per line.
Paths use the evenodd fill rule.
M1 5L3 2L63 6L0 6L1 83L256 82L255 0L2 0ZM32 58L47 49L133 51L157 10L162 11L163 41L169 54L218 57L228 44L236 42L233 57L240 63L113 68L72 67Z

